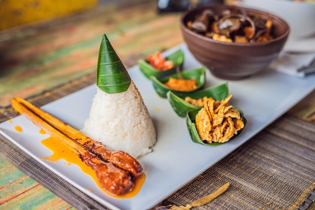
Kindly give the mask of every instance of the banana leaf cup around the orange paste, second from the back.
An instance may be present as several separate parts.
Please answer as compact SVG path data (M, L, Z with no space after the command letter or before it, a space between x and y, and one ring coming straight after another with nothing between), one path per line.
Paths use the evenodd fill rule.
M205 82L206 82L206 72L205 72L205 67L202 68L195 68L195 69L190 69L190 70L186 70L181 72L181 74L173 74L169 77L162 77L162 78L156 78L154 76L151 76L151 81L153 84L153 87L155 89L155 92L161 96L162 98L167 98L167 93L169 91L172 91L175 94L178 93L192 93L194 91L197 91L201 88L203 88ZM164 83L168 82L170 80L170 78L175 78L175 79L195 79L197 82L197 87L191 90L187 90L187 91L178 91L178 90L174 90L168 86L166 86Z

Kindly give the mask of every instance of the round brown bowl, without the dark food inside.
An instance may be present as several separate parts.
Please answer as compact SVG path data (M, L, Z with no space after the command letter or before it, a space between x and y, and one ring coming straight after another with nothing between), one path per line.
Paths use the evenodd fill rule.
M260 43L230 43L216 41L187 28L187 22L193 21L205 9L221 14L226 9L241 9L249 15L271 18L273 23L273 39ZM190 52L210 72L218 78L241 80L263 71L274 60L283 48L288 35L289 26L282 19L258 10L225 5L207 5L186 11L180 23L184 41Z

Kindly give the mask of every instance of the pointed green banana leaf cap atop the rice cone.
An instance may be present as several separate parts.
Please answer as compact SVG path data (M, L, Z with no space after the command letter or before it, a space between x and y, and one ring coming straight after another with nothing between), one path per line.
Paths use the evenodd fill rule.
M104 34L97 63L96 85L106 93L121 93L128 90L131 78Z

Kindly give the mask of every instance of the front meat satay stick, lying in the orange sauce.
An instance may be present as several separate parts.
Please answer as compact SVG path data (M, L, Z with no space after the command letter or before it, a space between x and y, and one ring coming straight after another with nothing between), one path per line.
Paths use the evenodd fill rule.
M106 162L101 160L98 156L88 151L86 147L76 142L75 139L67 136L66 134L62 133L61 131L53 127L51 124L46 122L44 120L46 114L45 117L43 117L38 115L38 113L32 111L32 110L39 111L40 110L39 108L24 101L21 98L18 99L13 98L11 99L11 103L12 107L15 108L20 114L26 116L35 125L42 128L46 133L50 134L53 137L61 139L62 142L65 143L65 145L71 151L77 154L82 159L82 161L84 161L88 166L90 166L95 171L101 186L108 192L114 195L122 195L129 192L133 188L134 183L132 182L132 177L128 171L119 168L112 162ZM28 106L25 104L31 106L32 109L29 109ZM61 124L65 125L65 123Z

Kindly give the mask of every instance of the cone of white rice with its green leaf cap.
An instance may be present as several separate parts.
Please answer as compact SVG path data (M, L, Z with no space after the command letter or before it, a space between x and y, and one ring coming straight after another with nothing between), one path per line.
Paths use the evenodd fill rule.
M156 142L142 97L106 35L99 53L97 93L82 132L134 158L151 152Z

